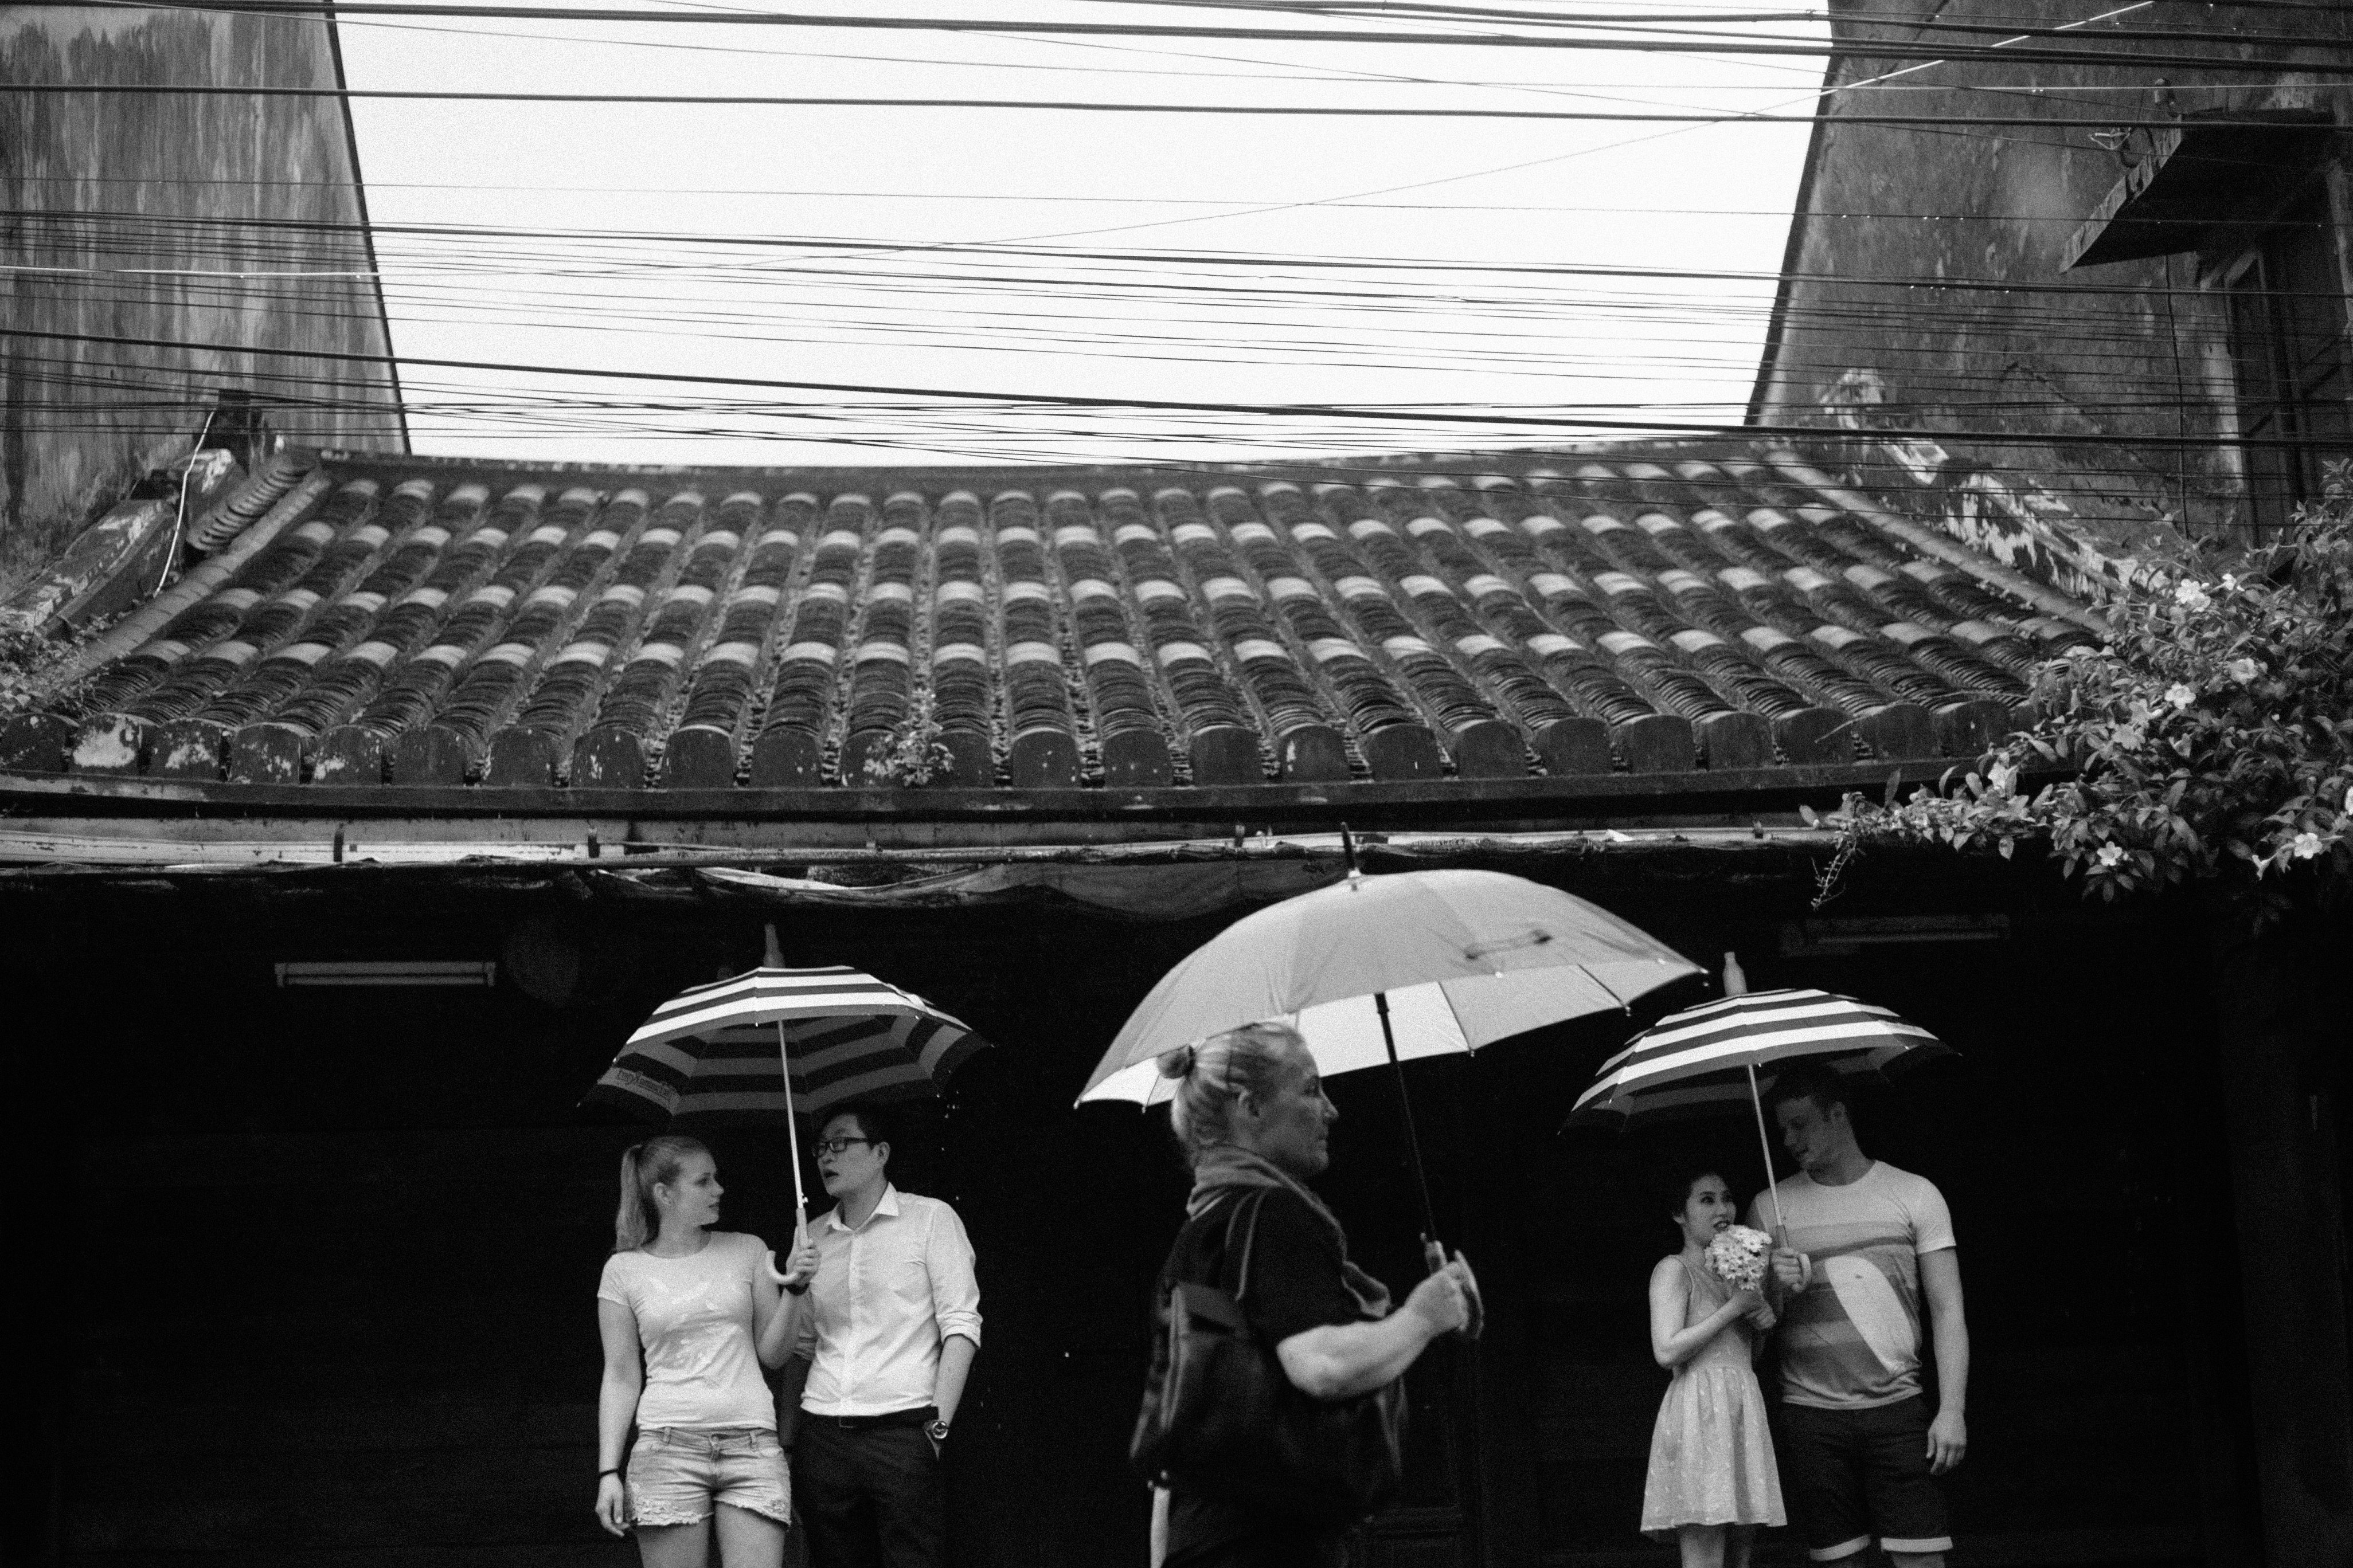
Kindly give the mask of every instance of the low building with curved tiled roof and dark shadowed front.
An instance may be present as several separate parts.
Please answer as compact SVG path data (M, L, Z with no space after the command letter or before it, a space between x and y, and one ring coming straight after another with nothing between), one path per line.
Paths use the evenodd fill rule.
M1847 449L318 456L0 726L7 978L104 997L101 1046L21 1058L54 1107L35 1164L73 1173L42 1246L92 1305L33 1368L52 1441L12 1516L73 1563L631 1561L588 1516L591 1298L640 1131L579 1100L774 922L788 961L882 973L993 1041L901 1166L981 1255L958 1561L1141 1561L1125 1443L1184 1178L1153 1117L1073 1098L1179 957L1344 875L1346 825L1374 875L1513 870L1958 1048L1864 1117L1960 1220L1972 1559L2334 1561L2268 1528L2264 1488L2280 1441L2322 1481L2346 1460L2341 1298L2313 1298L2337 1349L2299 1338L2289 1380L2247 1300L2273 1281L2249 1251L2337 1222L2313 1178L2344 1086L2242 1067L2344 1053L2308 1048L2320 1013L2233 1009L2186 900L2092 912L1944 851L1824 886L1805 809L1967 766L2101 628L1840 484ZM407 959L473 983L360 985ZM304 961L353 983L278 971ZM1694 1147L1741 1190L1765 1171L1741 1121L1560 1124L1633 1027L1706 994L1412 1067L1492 1331L1417 1373L1367 1566L1664 1561L1635 1530L1654 1178ZM1402 1286L1395 1098L1334 1095L1327 1192ZM713 1140L729 1225L784 1234L776 1128ZM2294 1192L2249 1190L2264 1161Z

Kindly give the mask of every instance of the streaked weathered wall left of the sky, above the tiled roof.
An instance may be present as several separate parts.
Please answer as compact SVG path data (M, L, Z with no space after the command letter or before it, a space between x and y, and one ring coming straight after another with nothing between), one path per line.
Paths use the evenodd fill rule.
M296 442L407 444L386 369L249 353L388 353L365 233L282 226L362 221L344 103L12 92L49 82L336 87L339 66L318 19L0 7L0 324L61 334L0 339L0 597L186 451L219 388L304 400L268 407Z

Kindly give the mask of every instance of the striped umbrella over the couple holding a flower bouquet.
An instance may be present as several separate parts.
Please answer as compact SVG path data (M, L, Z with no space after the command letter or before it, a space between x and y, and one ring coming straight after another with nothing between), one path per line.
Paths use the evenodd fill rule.
M1668 1013L1624 1051L1602 1063L1600 1077L1577 1095L1572 1124L1666 1114L1746 1100L1755 1110L1765 1178L1772 1180L1772 1140L1758 1070L1814 1060L1847 1074L1887 1074L1953 1048L1882 1006L1819 990L1744 992L1739 966L1725 964L1722 1001ZM1774 1222L1781 1199L1774 1197Z

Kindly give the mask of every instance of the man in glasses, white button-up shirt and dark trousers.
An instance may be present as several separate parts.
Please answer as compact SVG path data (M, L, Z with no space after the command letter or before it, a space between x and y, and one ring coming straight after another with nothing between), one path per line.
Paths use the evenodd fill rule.
M833 1211L816 1220L812 1359L793 1493L814 1568L944 1568L939 1460L981 1349L981 1286L965 1222L889 1182L889 1124L845 1105L816 1138Z

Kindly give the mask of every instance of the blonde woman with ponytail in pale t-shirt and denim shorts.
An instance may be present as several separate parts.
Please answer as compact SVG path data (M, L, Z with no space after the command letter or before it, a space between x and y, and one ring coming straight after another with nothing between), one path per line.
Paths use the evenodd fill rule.
M816 1248L802 1239L779 1274L760 1237L711 1229L720 1194L718 1164L694 1138L647 1138L621 1154L595 1302L595 1516L614 1535L635 1526L645 1568L704 1568L713 1535L727 1568L776 1568L793 1521L762 1368L793 1349Z

